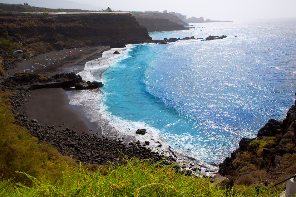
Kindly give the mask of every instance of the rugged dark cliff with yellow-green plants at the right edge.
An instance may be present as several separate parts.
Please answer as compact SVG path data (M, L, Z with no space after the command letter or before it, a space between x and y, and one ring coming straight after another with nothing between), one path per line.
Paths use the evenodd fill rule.
M283 122L271 119L255 138L243 138L219 174L236 185L277 183L296 172L296 101Z

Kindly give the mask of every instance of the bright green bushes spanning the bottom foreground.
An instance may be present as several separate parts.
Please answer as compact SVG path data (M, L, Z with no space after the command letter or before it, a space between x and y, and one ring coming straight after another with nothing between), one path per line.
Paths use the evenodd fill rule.
M126 160L124 165L117 164L113 168L110 166L106 175L89 174L80 168L63 173L55 182L27 177L32 181L32 187L3 180L0 196L257 196L252 188L233 194L232 190L211 186L209 180L176 172L172 166L139 159ZM272 194L271 189L262 189L258 196L278 194Z

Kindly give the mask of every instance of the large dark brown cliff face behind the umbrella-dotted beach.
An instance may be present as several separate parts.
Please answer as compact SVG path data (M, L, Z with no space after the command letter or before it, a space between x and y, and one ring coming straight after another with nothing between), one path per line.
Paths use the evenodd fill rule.
M0 36L30 51L78 46L110 46L150 41L146 28L130 14L67 14L54 18L0 18Z

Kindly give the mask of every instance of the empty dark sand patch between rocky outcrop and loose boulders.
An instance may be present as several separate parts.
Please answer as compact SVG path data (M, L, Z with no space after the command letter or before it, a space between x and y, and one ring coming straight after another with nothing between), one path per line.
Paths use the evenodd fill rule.
M62 88L36 89L27 99L26 114L38 124L56 126L58 130L69 128L75 132L89 132L91 129L81 114L68 106L68 98Z

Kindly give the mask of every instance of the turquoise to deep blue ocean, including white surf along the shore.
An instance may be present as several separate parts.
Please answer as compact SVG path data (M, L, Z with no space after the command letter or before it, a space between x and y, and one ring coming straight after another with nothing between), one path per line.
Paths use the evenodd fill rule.
M228 37L111 49L78 73L105 86L68 98L104 136L149 141L159 152L170 147L215 171L241 138L256 137L269 119L283 120L294 104L296 19L190 25L196 29L149 35ZM140 128L147 133L137 135Z

